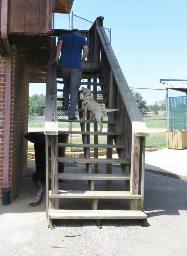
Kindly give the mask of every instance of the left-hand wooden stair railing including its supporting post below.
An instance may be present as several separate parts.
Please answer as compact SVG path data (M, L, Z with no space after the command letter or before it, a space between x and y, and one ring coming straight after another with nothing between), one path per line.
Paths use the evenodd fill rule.
M46 216L49 209L49 172L51 175L51 192L58 194L58 118L57 118L57 86L56 64L52 64L56 53L56 38L51 38L50 58L47 63L46 78L46 108L45 132L46 135ZM51 152L51 161L49 155ZM50 199L50 209L58 209L58 199Z

